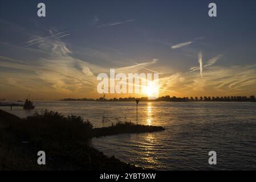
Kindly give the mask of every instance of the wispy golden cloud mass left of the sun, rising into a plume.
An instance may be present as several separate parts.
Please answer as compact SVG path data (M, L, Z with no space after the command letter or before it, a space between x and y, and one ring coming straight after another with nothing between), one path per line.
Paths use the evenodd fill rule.
M46 38L36 35L34 39L26 42L27 46L35 45L35 49L47 52L29 64L26 61L0 56L0 59L5 61L0 62L0 77L6 81L5 85L11 84L28 91L33 88L36 94L45 90L51 90L52 94L67 94L96 88L96 77L89 67L94 68L94 65L73 57L66 43L59 39L67 36L67 32L58 32L54 29L50 29L49 32L50 36ZM11 71L14 69L15 72ZM31 83L40 86L34 88Z

